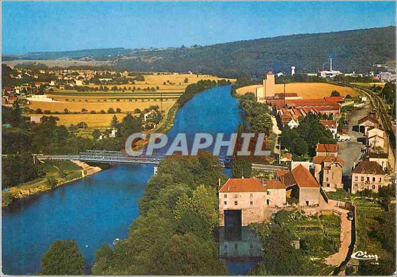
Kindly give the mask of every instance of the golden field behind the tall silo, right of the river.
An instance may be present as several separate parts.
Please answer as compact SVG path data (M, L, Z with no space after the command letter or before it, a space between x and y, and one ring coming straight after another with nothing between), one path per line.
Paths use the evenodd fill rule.
M258 88L259 86L260 85L242 87L240 89L237 89L237 93L255 93L256 88ZM289 83L285 85L285 93L296 92L298 96L301 96L302 98L323 98L325 96L330 96L332 91L338 91L342 96L350 94L352 97L355 97L358 95L358 92L356 92L352 88L340 87L326 83ZM283 84L276 85L276 93L277 92L284 92Z

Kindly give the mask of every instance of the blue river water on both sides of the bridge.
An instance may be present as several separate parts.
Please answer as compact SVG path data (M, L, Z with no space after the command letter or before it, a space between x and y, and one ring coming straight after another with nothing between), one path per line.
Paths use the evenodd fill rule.
M225 133L237 130L241 111L230 86L197 94L182 107L169 137L186 133ZM230 175L230 170L225 173ZM54 190L16 200L2 208L2 272L35 274L43 253L56 239L75 239L92 264L95 250L127 237L139 215L137 200L153 175L153 166L117 165ZM231 273L245 274L249 263L228 262ZM246 269L247 268L247 269Z

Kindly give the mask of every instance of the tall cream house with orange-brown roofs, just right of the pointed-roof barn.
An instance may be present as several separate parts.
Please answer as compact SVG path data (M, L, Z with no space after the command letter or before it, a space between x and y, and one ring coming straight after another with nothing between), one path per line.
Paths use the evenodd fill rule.
M335 191L343 188L342 172L344 161L336 156L315 156L314 177L325 191Z

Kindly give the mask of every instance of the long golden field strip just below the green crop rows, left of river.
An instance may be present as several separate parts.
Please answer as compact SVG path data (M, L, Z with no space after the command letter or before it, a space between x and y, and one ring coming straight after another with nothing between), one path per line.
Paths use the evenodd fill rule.
M174 101L163 101L162 106L163 110L167 110L169 107L171 107L174 104ZM29 104L28 108L36 110L38 108L42 109L44 112L45 110L49 110L51 112L57 112L57 113L63 113L65 108L68 109L70 112L81 112L81 109L86 109L88 112L90 111L96 111L97 113L100 112L101 110L104 110L107 112L109 108L113 108L116 110L117 108L120 108L122 112L133 112L136 108L140 110L144 110L145 108L148 108L149 106L152 105L158 105L161 106L160 99L157 101L145 101L142 102L142 100L137 100L137 101L132 101L130 102L128 99L122 99L120 102L118 102L116 99L114 100L109 100L106 102L100 101L100 102L40 102L40 101L31 101L31 104ZM77 115L77 116L85 116L85 114ZM95 116L95 115L94 115ZM82 121L82 120L80 120Z

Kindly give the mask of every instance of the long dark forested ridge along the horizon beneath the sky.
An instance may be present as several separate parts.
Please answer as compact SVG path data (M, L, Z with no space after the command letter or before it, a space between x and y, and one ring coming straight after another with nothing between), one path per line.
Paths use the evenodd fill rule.
M111 60L115 68L138 71L193 71L222 77L239 74L262 75L265 70L297 73L316 72L333 68L346 72L374 70L374 63L396 59L396 27L359 29L318 34L279 36L256 40L237 41L211 46L167 49L103 49L71 51L73 58L87 54L96 60ZM121 56L120 54L123 54ZM119 56L118 56L119 55ZM47 59L54 52L23 55L24 59ZM21 57L18 57L21 58Z

